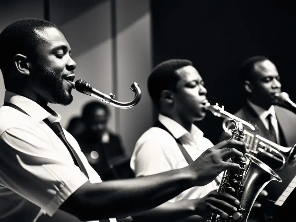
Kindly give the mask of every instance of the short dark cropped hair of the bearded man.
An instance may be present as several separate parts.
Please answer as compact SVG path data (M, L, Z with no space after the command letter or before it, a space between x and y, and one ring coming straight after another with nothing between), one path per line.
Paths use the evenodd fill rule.
M35 31L44 28L57 28L56 25L42 19L25 18L8 25L0 33L0 69L4 79L12 65L16 54L23 54L29 58L36 58L36 49L41 42L41 36Z

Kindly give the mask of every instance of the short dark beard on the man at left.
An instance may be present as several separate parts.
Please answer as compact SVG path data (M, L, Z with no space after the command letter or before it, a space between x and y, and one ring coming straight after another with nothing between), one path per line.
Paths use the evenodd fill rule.
M57 74L39 62L34 65L38 75L38 94L48 103L67 106L73 101L73 96L66 94L66 89Z

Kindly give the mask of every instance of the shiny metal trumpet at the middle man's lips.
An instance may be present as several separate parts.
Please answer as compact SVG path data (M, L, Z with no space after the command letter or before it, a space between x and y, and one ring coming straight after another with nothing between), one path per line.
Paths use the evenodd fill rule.
M275 171L282 170L286 165L286 157L283 155L283 153L289 152L287 155L287 162L290 167L293 167L296 165L296 149L295 146L293 147L283 147L280 146L274 142L271 142L262 136L258 135L259 129L257 126L253 126L252 124L248 123L245 120L242 120L229 112L226 112L224 110L224 106L219 107L219 105L216 103L216 105L211 105L209 102L205 101L203 104L206 110L209 110L213 113L213 115L224 118L223 120L223 130L228 133L231 136L231 124L228 124L230 120L237 120L241 122L246 128L250 129L249 131L244 130L244 139L243 141L246 144L247 149L250 150L254 155L261 156L265 159L265 157L270 158L273 160L273 169ZM259 157L258 157L259 158Z

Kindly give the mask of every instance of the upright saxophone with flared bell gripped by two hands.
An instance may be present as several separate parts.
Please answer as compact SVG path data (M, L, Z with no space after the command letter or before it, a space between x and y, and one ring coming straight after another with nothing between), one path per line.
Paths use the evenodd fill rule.
M205 104L205 109L210 106ZM237 120L229 120L235 125L231 133L231 138L241 141L244 139L244 126ZM217 192L229 193L237 200L240 205L237 207L237 212L229 215L228 218L221 218L215 213L207 222L247 222L251 209L255 203L256 198L264 187L273 180L281 182L281 178L268 165L258 160L256 157L245 154L247 165L237 157L230 159L231 163L237 163L241 166L240 170L225 170Z

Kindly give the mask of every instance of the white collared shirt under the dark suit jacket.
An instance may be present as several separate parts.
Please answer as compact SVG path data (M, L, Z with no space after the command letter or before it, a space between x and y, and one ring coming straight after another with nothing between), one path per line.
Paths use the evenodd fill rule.
M268 110L263 109L262 107L252 103L250 100L247 100L248 104L253 108L253 110L257 113L260 120L262 121L263 125L266 129L269 130L268 120L266 119L269 114L271 114L271 124L274 127L274 131L276 133L276 140L279 141L279 126L276 120L276 112L274 110L274 105L269 107Z

